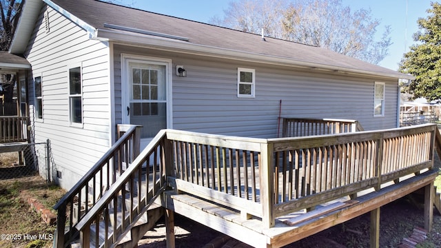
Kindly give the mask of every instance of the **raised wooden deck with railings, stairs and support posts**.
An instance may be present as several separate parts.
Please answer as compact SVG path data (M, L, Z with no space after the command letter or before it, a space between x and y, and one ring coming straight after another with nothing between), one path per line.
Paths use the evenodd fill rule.
M371 247L378 247L380 207L424 187L430 229L436 126L352 131L263 139L162 130L133 158L125 134L109 153L119 155L103 158L79 182L85 186L56 208L60 214L68 206L71 217L77 214L68 236L79 233L82 247L116 247L127 235L134 239L139 231L132 227L155 204L165 208L168 247L174 247L174 212L254 247L281 247L371 212ZM130 161L123 174L106 176L123 161ZM89 198L88 185L107 187L97 187L102 190L82 211L72 210L74 198ZM77 205L81 209L81 200ZM115 206L122 208L119 218L112 215ZM57 237L63 247L63 232Z

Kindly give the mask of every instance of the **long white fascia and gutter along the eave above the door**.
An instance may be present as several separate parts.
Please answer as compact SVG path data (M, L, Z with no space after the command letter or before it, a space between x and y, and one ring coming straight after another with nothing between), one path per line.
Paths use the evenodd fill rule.
M340 72L342 74L358 74L382 76L391 79L415 79L411 75L385 72L371 72L366 70L356 70L351 68L342 68L332 65L324 65L320 63L311 63L308 61L300 61L283 56L271 56L264 54L256 54L253 52L243 52L240 50L232 50L227 48L218 48L209 45L200 45L190 43L188 41L179 41L175 39L167 39L164 37L154 37L151 35L137 34L133 32L125 32L121 30L102 30L97 29L94 39L101 41L114 41L127 44L136 44L143 47L156 48L160 50L184 52L189 54L199 54L204 56L214 56L223 59L236 59L241 61L252 61L258 63L269 63L272 65L285 65L296 68L308 68L314 70L322 70L327 72Z

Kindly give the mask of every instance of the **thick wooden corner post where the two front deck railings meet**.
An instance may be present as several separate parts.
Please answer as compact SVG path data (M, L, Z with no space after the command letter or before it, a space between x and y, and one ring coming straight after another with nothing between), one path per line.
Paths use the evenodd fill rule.
M274 145L260 145L260 204L262 205L262 221L266 228L274 227Z

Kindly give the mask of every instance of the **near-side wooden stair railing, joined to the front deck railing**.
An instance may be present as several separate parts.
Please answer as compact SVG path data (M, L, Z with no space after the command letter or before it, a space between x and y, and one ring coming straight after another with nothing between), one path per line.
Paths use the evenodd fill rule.
M172 171L171 142L161 130L132 165L116 179L96 205L75 226L80 245L115 247L136 225L167 186ZM168 165L168 166L166 166ZM100 225L103 223L104 225Z

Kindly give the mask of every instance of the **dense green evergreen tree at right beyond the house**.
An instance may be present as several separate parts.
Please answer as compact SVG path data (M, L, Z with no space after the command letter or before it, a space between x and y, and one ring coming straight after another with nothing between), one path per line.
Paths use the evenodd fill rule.
M416 77L403 87L411 99L424 97L428 101L441 99L441 4L431 3L426 19L418 19L418 32L413 34L415 45L404 54L400 72Z

